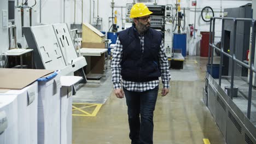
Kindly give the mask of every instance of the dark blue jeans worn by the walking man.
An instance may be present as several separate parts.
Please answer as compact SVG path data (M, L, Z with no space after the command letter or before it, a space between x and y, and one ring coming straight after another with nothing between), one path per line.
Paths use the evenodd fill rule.
M131 92L124 88L132 144L153 143L153 115L158 89L156 86L145 92Z

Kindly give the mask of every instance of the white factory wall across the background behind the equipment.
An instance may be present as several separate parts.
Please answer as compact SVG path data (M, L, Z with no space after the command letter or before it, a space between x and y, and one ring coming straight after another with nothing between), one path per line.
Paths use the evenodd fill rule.
M99 4L97 4L97 2ZM132 3L132 0L115 0L114 1L114 11L117 10L117 25L119 26L119 31L124 27L125 22L125 13L126 13L126 3ZM75 6L74 6L74 3ZM112 25L112 19L109 18L112 16L111 9L112 0L83 0L83 22L96 23L97 14L99 17L102 17L102 31L108 31ZM146 4L153 4L146 3ZM159 5L172 4L175 7L175 0L156 0L156 3ZM201 18L201 10L203 7L210 6L213 8L214 15L220 15L220 8L222 11L224 8L234 8L240 7L241 5L252 3L252 1L217 1L217 0L197 0L196 5L196 24L195 29L197 30L195 38L189 36L189 26L188 24L194 24L195 17L195 7L191 6L191 0L181 0L181 8L185 8L185 28L184 33L188 35L188 49L190 50L189 55L198 54L198 49L196 52L197 43L200 41L200 31L209 31L210 22L204 22ZM34 0L28 0L29 5L34 4ZM90 8L91 5L91 8ZM98 5L98 10L97 10ZM39 1L37 0L37 5L34 7L39 10ZM74 19L74 9L75 9L75 19ZM90 13L91 9L91 13ZM94 14L94 16L93 16ZM173 15L175 12L173 11ZM91 15L91 16L90 16ZM38 16L39 17L39 16ZM39 18L38 18L39 19ZM123 22L122 22L123 19ZM42 0L42 23L58 23L64 22L63 19L63 0ZM82 0L65 0L65 22L68 24L71 23L81 23L82 22ZM184 21L182 21L183 24ZM101 22L100 22L101 23ZM216 21L216 43L220 40L220 31L221 31L221 22ZM197 38L198 37L198 38Z

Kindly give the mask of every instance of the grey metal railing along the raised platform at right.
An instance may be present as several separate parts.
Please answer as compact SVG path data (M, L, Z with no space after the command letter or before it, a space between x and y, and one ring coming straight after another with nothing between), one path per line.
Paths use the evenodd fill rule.
M214 45L214 33L215 33L215 21L216 19L222 20L222 38L221 38L221 46L220 49ZM233 43L233 50L229 53L224 52L224 24L225 21L232 21L233 22L233 33L232 37L230 38L230 41L232 39ZM236 29L237 29L237 21L243 21L243 22L251 22L252 27L252 46L251 46L251 56L249 59L251 60L251 63L246 64L245 62L240 61L236 58L235 52L236 52ZM231 17L212 17L210 21L210 44L208 47L208 64L210 64L210 57L211 57L211 69L210 74L213 73L213 52L214 49L218 50L220 52L220 64L219 64L219 86L221 86L222 83L222 67L223 67L223 56L227 56L231 58L231 95L230 98L233 99L233 93L234 93L234 67L235 63L238 63L242 65L243 67L247 68L249 73L249 92L248 92L248 107L247 107L247 117L251 118L251 104L252 104L252 81L253 81L253 72L256 73L256 70L254 68L254 53L255 53L255 26L256 22L254 19L242 19L242 18L231 18ZM213 47L213 49L211 49ZM211 53L210 53L211 52ZM211 56L210 56L211 55Z

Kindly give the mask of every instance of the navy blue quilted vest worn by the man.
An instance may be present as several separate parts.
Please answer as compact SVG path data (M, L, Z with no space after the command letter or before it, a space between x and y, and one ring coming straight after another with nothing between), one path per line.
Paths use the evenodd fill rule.
M134 27L118 33L120 43L123 45L121 76L126 81L134 82L158 80L161 76L158 52L160 51L162 34L149 28L144 33L143 52L138 36Z

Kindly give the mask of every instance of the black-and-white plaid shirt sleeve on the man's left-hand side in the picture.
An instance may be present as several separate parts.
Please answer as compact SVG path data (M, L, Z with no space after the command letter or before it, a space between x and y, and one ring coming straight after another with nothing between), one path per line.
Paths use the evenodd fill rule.
M119 38L117 38L117 42L115 43L113 59L111 63L112 69L112 82L114 85L114 89L122 88L121 86L121 59L123 57L123 45L121 45Z

